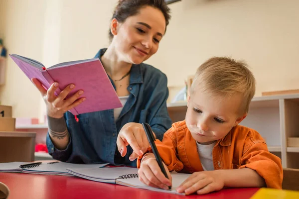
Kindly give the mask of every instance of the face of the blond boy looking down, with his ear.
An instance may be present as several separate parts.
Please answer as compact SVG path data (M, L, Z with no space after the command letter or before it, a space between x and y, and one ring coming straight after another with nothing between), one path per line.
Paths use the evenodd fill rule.
M186 124L192 137L200 144L211 144L225 137L245 117L240 115L241 95L230 98L197 90L188 96Z

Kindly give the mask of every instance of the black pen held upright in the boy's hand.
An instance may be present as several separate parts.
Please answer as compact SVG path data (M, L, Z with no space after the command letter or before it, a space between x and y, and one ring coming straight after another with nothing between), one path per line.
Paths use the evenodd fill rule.
M142 125L143 125L143 127L144 127L144 129L146 131L146 134L147 134L147 137L148 137L148 140L149 140L149 144L150 144L150 147L151 147L152 152L154 154L154 157L155 157L155 159L156 159L156 161L157 161L157 163L158 163L158 165L159 165L162 173L168 179L167 173L166 173L165 168L164 168L163 163L162 163L162 159L161 159L161 157L159 155L159 152L157 150L157 147L156 147L156 145L154 143L155 138L154 138L154 136L152 134L151 128L150 128L150 126L149 126L148 123L142 123ZM169 188L169 190L171 190L171 186L169 186L168 188Z

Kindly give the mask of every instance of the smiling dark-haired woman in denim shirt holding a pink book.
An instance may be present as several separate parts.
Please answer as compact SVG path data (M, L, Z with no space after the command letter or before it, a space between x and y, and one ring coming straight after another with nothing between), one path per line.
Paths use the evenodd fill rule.
M119 1L110 25L111 43L98 57L124 107L78 115L68 110L84 101L78 91L65 100L76 85L57 97L54 83L46 91L32 79L47 106L47 147L53 158L71 163L110 163L136 167L136 158L149 147L142 122L157 139L170 128L166 100L167 78L143 62L158 50L169 20L164 0ZM105 94L103 94L105 95ZM129 146L128 146L129 145Z

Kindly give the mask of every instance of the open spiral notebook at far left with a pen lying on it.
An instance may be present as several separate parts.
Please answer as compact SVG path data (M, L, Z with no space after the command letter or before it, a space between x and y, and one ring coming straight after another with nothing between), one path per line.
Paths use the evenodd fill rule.
M28 165L30 164L30 165ZM21 166L23 165L23 166ZM26 166L27 165L27 166ZM72 164L66 162L8 162L0 163L0 172L72 176L66 169L101 168L107 164Z

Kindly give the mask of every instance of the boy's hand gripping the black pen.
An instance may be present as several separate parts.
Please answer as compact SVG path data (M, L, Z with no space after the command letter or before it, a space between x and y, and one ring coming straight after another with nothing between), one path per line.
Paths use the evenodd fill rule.
M140 181L150 187L169 190L168 187L171 186L172 179L166 165L164 163L163 165L169 179L167 179L162 173L154 155L152 153L147 153L141 162L140 169L138 170Z

